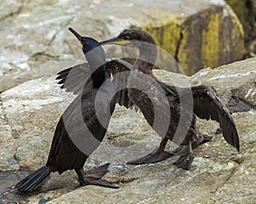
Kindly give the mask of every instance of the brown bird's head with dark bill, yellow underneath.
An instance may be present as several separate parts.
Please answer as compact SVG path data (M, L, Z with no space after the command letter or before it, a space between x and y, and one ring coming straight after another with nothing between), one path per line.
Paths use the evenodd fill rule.
M118 37L100 42L101 45L105 44L116 44L129 47L138 47L138 42L149 42L155 44L153 37L146 31L137 29L125 29Z

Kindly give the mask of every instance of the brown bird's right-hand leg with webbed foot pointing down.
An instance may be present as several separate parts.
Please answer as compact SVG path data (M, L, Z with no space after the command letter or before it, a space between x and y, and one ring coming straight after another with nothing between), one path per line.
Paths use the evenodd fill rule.
M177 167L183 168L184 170L189 170L193 160L194 156L192 150L192 142L189 141L188 152L185 153L183 156L180 156L179 159L173 164L176 165Z

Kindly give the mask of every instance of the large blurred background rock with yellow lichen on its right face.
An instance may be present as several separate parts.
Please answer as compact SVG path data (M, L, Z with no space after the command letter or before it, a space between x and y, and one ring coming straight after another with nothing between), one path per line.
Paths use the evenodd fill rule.
M77 59L84 60L68 26L98 40L114 37L125 28L142 28L153 34L158 45L172 54L188 75L243 55L241 24L224 0L12 0L2 7L0 92L32 78L55 74ZM108 50L115 54L119 49Z

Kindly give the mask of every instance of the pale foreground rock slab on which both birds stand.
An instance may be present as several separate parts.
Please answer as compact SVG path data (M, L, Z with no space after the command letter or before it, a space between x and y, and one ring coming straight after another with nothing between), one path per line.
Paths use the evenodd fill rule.
M253 58L214 70L207 68L185 78L193 84L213 85L225 103L236 95L253 105L255 62L256 58ZM167 71L156 70L154 74L168 83L171 79L180 81L183 78ZM251 88L254 89L249 92ZM11 185L15 184L16 178L11 179L9 175L16 174L16 170L35 170L45 164L55 125L74 96L61 90L54 77L22 83L0 96L0 171L11 171L6 173L8 181L3 182ZM183 171L172 165L177 156L150 165L126 165L125 161L154 150L160 138L141 114L117 107L108 134L86 161L84 169L110 162L104 178L118 184L119 190L80 187L76 174L68 171L61 176L52 173L38 193L9 194L2 200L0 198L0 202L252 203L256 199L256 111L234 113L233 117L240 135L241 152L237 153L222 135L215 134L216 122L198 120L201 132L215 137L195 150L191 169ZM27 173L21 171L17 178L24 178L24 174Z

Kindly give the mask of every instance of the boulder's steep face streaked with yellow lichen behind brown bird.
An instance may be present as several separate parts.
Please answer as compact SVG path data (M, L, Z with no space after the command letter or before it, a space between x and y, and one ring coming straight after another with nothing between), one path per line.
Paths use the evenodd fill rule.
M244 54L244 32L228 5L212 6L189 18L151 17L140 27L178 60L183 71L176 71L186 75L228 64ZM165 62L167 58L170 55L161 56L160 60Z

